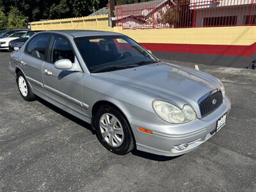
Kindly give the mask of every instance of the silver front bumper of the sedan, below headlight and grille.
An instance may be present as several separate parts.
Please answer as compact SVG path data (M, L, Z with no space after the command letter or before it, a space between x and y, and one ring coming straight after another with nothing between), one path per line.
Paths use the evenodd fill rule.
M209 140L216 132L217 120L229 113L231 108L230 99L225 97L223 104L211 114L202 119L196 119L188 124L132 124L132 131L138 150L161 156L180 156L194 150L200 144ZM152 134L138 131L138 127L155 130ZM157 129L156 129L157 127ZM162 131L163 130L163 131ZM173 148L177 145L188 144L184 150Z

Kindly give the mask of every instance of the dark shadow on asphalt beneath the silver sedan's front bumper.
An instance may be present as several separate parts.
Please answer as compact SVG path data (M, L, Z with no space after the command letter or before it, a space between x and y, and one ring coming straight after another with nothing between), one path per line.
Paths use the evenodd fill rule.
M153 161L170 161L172 159L176 159L180 156L174 156L174 157L167 157L167 156L158 156L155 154L150 154L148 152L143 152L140 150L132 150L132 155L138 156L138 157L143 157L145 159L153 160Z

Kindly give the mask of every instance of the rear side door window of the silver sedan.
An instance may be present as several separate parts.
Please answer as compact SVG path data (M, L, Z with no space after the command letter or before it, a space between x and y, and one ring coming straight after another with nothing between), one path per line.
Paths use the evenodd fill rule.
M36 36L28 43L26 52L35 58L44 60L49 37L50 35Z

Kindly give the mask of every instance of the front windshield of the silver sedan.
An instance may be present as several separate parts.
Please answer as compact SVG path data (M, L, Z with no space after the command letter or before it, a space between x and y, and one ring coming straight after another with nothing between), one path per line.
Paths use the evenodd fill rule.
M158 61L127 36L84 36L76 38L75 42L91 72L111 67L136 67Z

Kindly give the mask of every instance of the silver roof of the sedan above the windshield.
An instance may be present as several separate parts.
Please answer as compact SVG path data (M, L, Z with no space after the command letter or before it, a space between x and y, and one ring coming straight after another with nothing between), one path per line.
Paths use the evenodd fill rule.
M114 33L109 31L94 31L94 30L54 30L54 31L45 31L50 33L60 33L72 35L75 38L81 36L106 36L106 35L122 35L121 33Z

